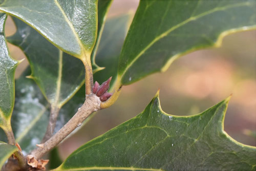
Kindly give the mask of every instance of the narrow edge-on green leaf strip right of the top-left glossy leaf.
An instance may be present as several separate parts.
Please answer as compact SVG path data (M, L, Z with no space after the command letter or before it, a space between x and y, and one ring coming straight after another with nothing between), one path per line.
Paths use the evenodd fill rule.
M106 14L109 11L111 3L112 3L112 0L98 0L98 34L97 34L97 39L91 55L92 68L95 71L99 71L103 69L103 68L100 68L98 65L96 65L95 56L96 56L96 52L100 42L101 34L104 28Z

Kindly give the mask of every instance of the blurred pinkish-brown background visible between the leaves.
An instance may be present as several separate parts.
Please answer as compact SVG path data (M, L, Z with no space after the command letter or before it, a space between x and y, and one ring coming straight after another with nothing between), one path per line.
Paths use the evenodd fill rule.
M134 13L139 0L115 0L108 18ZM15 33L10 18L6 35ZM25 55L8 44L15 59ZM23 61L16 78L28 65ZM142 112L160 88L163 111L173 115L203 112L232 94L225 117L225 131L235 140L256 146L248 130L256 131L256 30L226 36L221 48L209 48L187 54L173 62L164 73L150 75L122 88L117 102L97 114L65 142L59 145L62 159L87 141Z

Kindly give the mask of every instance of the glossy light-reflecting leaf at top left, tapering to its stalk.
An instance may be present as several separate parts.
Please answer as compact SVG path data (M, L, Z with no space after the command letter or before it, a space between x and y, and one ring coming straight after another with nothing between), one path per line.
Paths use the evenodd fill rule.
M22 19L66 53L90 59L97 35L97 0L6 0L0 10Z

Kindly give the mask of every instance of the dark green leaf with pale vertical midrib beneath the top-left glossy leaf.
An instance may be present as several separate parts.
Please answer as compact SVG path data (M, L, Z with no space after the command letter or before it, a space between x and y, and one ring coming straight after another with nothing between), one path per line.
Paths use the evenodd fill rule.
M8 41L24 51L32 70L30 78L52 106L61 108L84 83L83 63L60 51L21 20L13 20L17 31Z

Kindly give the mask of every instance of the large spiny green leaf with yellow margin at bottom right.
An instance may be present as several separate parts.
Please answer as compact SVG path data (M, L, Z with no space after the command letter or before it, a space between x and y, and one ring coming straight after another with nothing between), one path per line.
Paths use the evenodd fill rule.
M141 114L82 145L55 170L254 170L256 147L224 131L228 100L175 116L162 111L157 94Z

